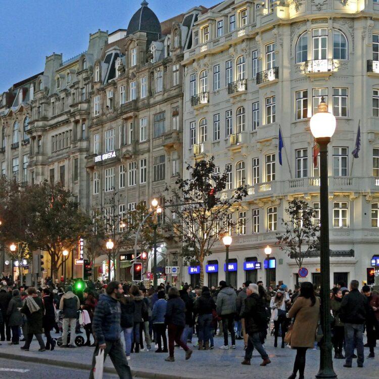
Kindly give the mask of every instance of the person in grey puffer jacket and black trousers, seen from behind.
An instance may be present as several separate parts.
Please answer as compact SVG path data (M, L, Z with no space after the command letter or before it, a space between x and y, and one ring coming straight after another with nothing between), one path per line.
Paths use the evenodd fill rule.
M228 332L231 338L231 349L235 349L234 316L236 312L237 295L234 289L226 286L226 281L221 280L220 292L217 295L216 311L222 320L224 344L220 349L229 349Z

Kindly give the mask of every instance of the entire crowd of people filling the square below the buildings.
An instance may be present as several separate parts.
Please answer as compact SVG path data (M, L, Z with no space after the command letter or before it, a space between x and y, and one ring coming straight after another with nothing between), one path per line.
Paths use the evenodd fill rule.
M62 334L60 348L74 348L83 327L84 345L95 347L93 369L101 349L112 359L120 378L130 378L131 354L154 348L155 353L168 353L165 360L173 362L175 347L180 347L187 360L194 348L214 349L215 336L223 337L223 350L235 349L235 341L243 340L245 357L241 363L251 364L255 348L262 357L260 365L266 366L271 361L264 344L271 333L274 348L279 344L296 349L289 379L298 373L304 378L306 352L317 349L319 342L320 299L310 282L296 286L294 292L283 284L266 291L261 281L246 281L238 291L223 280L218 288L192 288L181 283L178 289L162 283L156 289L146 289L141 283L88 281L83 291L75 291L73 284L65 286L47 278L38 288L25 288L3 278L1 341L7 340L9 345L24 342L21 349L29 351L35 336L39 352L54 350L57 339L51 331L55 330ZM363 367L364 347L369 348L368 358L374 358L379 338L378 294L369 286L359 291L356 280L351 281L349 290L340 282L330 291L330 312L334 358L345 359L345 367L352 367L357 358L357 366Z

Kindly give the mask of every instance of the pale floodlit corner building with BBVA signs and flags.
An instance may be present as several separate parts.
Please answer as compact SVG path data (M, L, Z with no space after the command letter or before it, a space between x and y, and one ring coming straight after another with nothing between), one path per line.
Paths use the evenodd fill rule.
M321 97L337 118L328 147L330 282L369 279L379 239L378 16L372 1L235 0L209 9L192 28L182 62L183 161L214 156L216 170L229 176L222 196L248 185L242 209L232 214L235 287L246 279L291 287L298 280L276 233L294 197L319 212L309 119ZM359 124L361 150L353 159ZM205 284L224 279L224 261L219 244L205 262ZM319 252L303 266L319 283ZM195 283L197 270L188 272L184 281Z

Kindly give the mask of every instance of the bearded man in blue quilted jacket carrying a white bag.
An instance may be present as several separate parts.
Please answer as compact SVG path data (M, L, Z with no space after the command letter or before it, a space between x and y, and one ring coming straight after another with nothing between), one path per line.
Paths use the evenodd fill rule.
M107 293L100 295L92 319L96 348L93 352L89 379L93 379L96 357L100 349L104 350L104 359L109 354L120 379L131 379L130 367L120 340L121 306L118 299L121 298L123 292L120 282L111 281L107 287Z

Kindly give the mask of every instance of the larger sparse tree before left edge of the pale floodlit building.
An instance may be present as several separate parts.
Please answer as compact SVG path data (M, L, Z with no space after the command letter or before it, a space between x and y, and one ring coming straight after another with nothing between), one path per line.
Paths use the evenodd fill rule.
M230 234L235 222L231 214L239 210L248 195L244 183L226 191L228 173L215 174L214 157L187 164L188 179L179 177L174 188L166 188L172 216L172 229L182 241L184 261L200 265L200 283L204 282L204 260L216 242ZM213 202L209 203L211 190ZM176 205L184 204L184 205Z

